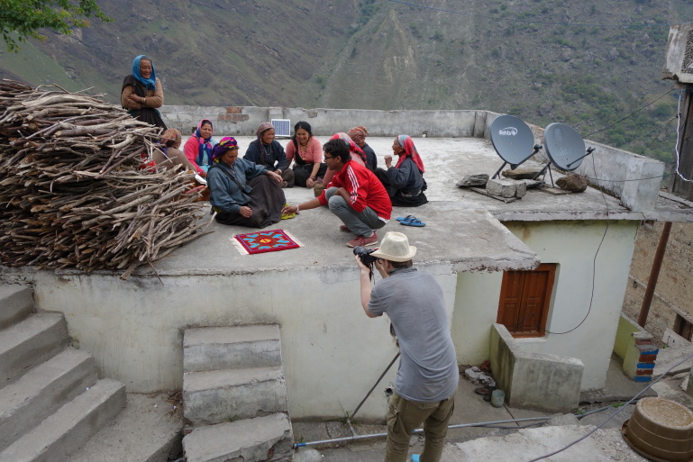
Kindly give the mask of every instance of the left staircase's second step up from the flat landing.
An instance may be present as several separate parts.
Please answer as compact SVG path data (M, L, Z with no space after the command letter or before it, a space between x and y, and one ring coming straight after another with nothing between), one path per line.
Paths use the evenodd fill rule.
M0 389L0 450L96 384L96 379L91 355L65 349Z

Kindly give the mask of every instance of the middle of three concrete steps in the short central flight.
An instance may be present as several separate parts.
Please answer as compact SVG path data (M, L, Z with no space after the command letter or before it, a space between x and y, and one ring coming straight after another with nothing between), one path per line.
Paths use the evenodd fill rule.
M185 417L193 426L287 412L279 367L189 372L183 375Z

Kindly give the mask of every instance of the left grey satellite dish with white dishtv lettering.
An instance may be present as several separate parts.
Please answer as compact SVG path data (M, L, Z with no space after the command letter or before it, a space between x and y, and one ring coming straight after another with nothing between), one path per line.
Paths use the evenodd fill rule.
M542 149L541 145L534 144L534 135L527 124L514 115L498 116L491 123L491 143L500 159L503 159L503 165L492 178L498 177L506 164L515 170Z

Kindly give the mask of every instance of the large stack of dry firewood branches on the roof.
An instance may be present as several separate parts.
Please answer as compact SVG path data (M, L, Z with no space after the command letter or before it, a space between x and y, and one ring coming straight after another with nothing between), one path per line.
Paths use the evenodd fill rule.
M126 278L204 234L193 175L142 168L159 133L98 95L0 81L0 262Z

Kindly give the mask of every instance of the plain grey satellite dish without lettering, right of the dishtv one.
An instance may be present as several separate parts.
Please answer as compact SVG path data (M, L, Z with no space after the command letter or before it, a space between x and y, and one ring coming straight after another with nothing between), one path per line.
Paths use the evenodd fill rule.
M585 149L585 141L582 136L564 123L550 123L543 131L543 144L546 146L546 155L549 163L542 169L539 175L551 176L552 164L561 170L572 171L579 168L582 159L585 159L594 151L594 148ZM535 178L536 178L535 177ZM551 177L553 184L553 177ZM542 180L543 183L543 180Z

